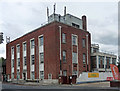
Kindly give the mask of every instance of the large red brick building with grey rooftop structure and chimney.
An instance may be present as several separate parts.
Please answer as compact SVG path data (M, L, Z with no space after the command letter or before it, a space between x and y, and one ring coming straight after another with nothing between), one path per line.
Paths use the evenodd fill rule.
M53 14L48 20L48 24L6 45L8 81L64 79L60 81L68 83L70 76L78 77L83 71L91 70L91 37L86 16L79 19L70 14L62 17ZM65 23L67 20L74 23Z

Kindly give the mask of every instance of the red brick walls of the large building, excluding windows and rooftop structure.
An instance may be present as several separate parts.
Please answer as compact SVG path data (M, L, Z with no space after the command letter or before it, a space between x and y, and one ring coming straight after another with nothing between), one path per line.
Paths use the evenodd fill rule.
M48 79L48 74L52 74L52 79L58 79L60 74L60 34L59 26L61 26L61 34L66 34L66 43L61 43L61 55L62 51L66 51L66 62L63 62L63 57L61 60L62 71L67 71L67 77L72 75L72 70L78 69L78 75L83 71L91 70L90 62L90 48L91 48L91 36L86 30L81 30L68 26L66 24L54 21L52 23L46 24L45 26L38 28L24 36L8 43L6 45L6 74L10 75L11 79L11 47L14 47L14 79L17 78L17 58L16 58L16 45L20 45L20 79L23 75L23 42L27 43L27 79L30 79L30 39L34 38L35 45L38 45L38 36L44 36L44 79ZM84 25L85 27L85 25ZM86 28L86 27L85 27ZM78 36L78 46L72 46L72 34ZM82 47L82 39L86 39L88 34L88 52L87 46ZM62 38L62 36L61 36ZM87 41L86 41L87 45ZM38 56L38 46L35 46L35 79L37 75L39 76L39 56ZM78 52L78 64L77 66L72 64L72 51ZM86 64L83 64L83 53L86 54ZM88 53L88 66L87 66L87 53Z

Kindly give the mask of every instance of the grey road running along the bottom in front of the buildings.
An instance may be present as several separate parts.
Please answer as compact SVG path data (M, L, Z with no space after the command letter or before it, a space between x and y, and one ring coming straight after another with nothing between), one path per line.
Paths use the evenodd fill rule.
M101 83L103 84L103 83ZM94 86L92 86L94 85ZM99 84L100 85L100 84ZM17 85L17 84L2 84L2 91L120 91L120 88L111 87L95 87L95 83L82 84L82 85L40 85L40 86L29 86L29 85Z

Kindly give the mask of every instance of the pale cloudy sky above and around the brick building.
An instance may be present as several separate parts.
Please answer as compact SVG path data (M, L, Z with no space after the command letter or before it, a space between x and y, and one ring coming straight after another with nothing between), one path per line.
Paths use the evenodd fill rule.
M6 58L6 36L10 40L38 28L47 21L53 13L56 3L56 13L63 15L64 6L67 13L77 16L87 16L87 30L91 33L92 43L99 44L100 50L118 55L118 2L83 2L83 1L0 1L0 32L4 33L4 43L0 44L0 57Z

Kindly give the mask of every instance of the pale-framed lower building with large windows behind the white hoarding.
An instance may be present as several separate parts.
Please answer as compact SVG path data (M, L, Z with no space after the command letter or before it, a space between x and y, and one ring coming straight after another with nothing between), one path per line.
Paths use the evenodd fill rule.
M102 52L98 44L91 44L91 67L93 71L111 71L110 64L117 64L117 56L112 53Z

